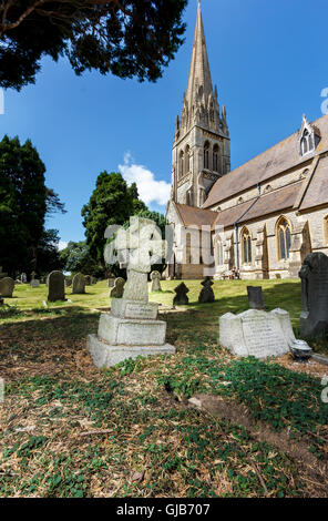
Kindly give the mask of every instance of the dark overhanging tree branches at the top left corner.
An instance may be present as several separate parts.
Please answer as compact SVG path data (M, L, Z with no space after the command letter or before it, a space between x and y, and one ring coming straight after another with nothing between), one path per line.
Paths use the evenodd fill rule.
M0 86L33 83L42 57L156 81L183 43L187 0L0 0Z

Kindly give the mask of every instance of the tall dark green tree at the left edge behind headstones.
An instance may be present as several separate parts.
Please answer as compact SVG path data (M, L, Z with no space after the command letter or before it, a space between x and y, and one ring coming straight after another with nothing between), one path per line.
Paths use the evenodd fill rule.
M28 140L7 135L0 142L0 265L12 275L35 269L38 247L44 241L44 219L52 206L62 206L45 186L45 166ZM62 211L64 211L62 208Z

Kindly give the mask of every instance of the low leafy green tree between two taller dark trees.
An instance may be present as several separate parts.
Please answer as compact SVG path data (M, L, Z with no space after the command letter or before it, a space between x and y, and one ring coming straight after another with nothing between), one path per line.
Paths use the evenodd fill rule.
M92 258L85 241L79 243L70 241L59 256L66 272L81 272L84 275L93 275L94 277L104 276L102 266Z

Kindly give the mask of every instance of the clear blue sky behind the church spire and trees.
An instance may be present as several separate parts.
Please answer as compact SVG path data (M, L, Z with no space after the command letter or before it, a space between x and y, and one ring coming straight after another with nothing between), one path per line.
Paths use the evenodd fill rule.
M203 0L213 83L227 106L232 166L322 115L328 88L327 0ZM78 78L66 60L42 62L34 85L4 93L0 135L30 137L47 183L68 213L48 219L62 242L84 238L81 208L98 174L137 180L147 205L165 212L175 116L186 89L196 0L185 11L185 43L155 84L96 72Z

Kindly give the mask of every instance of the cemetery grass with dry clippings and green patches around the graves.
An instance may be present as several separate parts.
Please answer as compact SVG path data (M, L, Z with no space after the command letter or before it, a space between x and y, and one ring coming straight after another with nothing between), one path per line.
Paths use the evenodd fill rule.
M218 315L247 309L247 284L215 283L214 305L196 303L199 282L186 284L191 306L161 314L176 356L103 370L85 339L109 307L104 283L47 309L44 288L31 298L19 288L0 319L1 497L327 497L319 375L218 346ZM151 299L170 306L175 285ZM296 326L298 283L262 285L267 307ZM191 407L195 395L219 400L219 413Z

